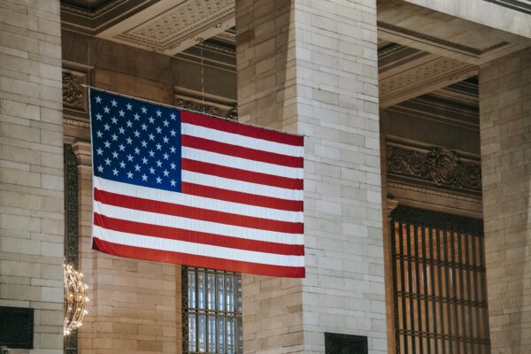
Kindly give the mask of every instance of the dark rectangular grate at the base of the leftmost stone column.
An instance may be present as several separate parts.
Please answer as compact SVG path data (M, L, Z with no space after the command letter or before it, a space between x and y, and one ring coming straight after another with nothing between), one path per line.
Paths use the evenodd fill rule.
M0 346L33 349L34 309L0 306Z

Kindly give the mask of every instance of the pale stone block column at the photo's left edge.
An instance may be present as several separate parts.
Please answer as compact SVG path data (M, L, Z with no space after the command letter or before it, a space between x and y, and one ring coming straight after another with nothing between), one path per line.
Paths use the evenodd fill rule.
M0 306L35 309L35 352L63 352L59 0L0 1Z

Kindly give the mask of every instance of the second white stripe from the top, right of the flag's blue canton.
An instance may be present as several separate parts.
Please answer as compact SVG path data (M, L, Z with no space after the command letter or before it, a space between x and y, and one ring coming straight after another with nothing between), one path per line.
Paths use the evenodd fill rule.
M181 149L182 158L208 162L214 165L224 165L227 167L239 168L251 172L267 173L274 176L303 179L304 169L298 167L287 167L283 165L268 164L266 162L249 160L247 158L235 158L217 152L199 150L183 146Z

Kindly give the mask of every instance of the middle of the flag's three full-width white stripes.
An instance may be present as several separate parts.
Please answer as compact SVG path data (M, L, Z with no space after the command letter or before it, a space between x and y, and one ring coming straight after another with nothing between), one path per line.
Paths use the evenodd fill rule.
M237 227L212 221L159 214L157 212L142 212L135 209L103 204L96 201L93 203L93 210L94 212L109 218L142 222L143 224L158 225L163 227L176 227L184 230L204 232L212 235L238 237L255 241L304 244L304 237L300 234L288 234L250 227Z

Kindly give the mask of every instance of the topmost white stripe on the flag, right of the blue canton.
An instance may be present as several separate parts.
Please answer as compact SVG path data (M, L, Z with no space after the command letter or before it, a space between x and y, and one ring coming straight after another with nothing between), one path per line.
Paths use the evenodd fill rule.
M302 158L304 155L304 147L302 146L288 145L281 142L270 142L246 135L228 133L189 123L181 124L181 134L197 136L214 142L225 142L231 145L243 146L255 150L274 152L276 154L288 155L296 158Z

